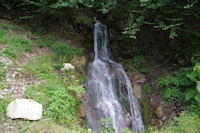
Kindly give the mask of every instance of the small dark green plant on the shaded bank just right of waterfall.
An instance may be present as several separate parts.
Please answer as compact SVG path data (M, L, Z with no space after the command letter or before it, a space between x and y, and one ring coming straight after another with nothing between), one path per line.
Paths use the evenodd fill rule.
M137 68L140 72L147 73L149 70L149 67L145 66L144 63L145 63L145 60L144 60L144 56L142 55L135 56L133 58L133 66Z

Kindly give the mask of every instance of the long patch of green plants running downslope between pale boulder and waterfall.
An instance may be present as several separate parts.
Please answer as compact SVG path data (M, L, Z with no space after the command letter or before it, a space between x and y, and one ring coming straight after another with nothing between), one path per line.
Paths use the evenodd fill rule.
M22 72L26 76L39 76L44 80L38 87L31 85L27 88L26 95L43 104L46 117L71 125L76 122L76 110L81 103L75 97L84 93L84 89L77 79L72 78L72 73L66 72L66 76L61 78L53 64L51 56L43 55L24 66Z

